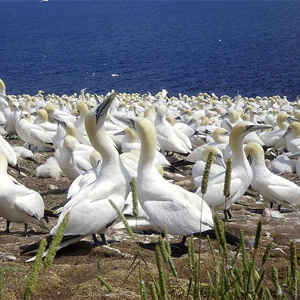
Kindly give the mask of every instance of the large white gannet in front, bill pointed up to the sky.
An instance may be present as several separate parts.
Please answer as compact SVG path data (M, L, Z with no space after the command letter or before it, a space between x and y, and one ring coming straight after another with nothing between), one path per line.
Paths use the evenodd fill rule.
M64 217L69 214L69 221L58 249L74 244L89 235L104 234L118 217L109 200L122 210L130 191L131 178L120 160L117 149L104 130L106 113L113 98L112 94L86 116L85 126L90 141L102 157L101 170L92 184L74 194L63 207L57 224L48 237L48 240L52 239ZM37 246L38 244L29 246L22 253L32 251ZM28 261L34 259L35 257Z

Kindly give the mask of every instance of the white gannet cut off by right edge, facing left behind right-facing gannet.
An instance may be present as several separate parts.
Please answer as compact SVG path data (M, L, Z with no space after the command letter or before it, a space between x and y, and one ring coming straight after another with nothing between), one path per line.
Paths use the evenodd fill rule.
M300 204L300 187L286 178L273 174L267 168L264 150L260 145L250 142L244 150L246 155L252 158L253 179L251 186L271 203L271 207L273 203L277 203L280 211L281 205Z

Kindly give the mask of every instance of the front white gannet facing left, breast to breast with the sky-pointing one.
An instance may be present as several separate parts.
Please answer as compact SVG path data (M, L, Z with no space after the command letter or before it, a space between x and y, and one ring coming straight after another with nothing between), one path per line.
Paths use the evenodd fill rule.
M212 229L212 212L195 193L167 182L154 165L156 130L151 121L136 118L135 128L141 140L137 174L137 196L149 219L168 233L186 236Z

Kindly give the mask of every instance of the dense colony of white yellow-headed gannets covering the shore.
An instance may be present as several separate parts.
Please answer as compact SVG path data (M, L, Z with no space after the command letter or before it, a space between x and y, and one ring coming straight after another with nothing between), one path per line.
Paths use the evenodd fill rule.
M113 202L133 230L162 233L166 228L184 244L186 237L214 229L214 211L223 212L225 221L239 218L230 209L250 186L279 211L300 204L300 187L283 177L288 172L300 176L300 99L170 97L166 90L92 95L85 89L71 96L43 91L14 96L6 94L0 80L0 119L0 216L7 234L11 222L25 224L25 235L28 224L36 224L50 242L68 214L59 248L88 236L106 244L109 227L124 227ZM22 146L10 146L7 140L14 136ZM34 159L46 151L51 155L35 176L65 176L70 182L64 203L53 209L53 228L45 221L42 196L7 172L21 172L20 157ZM228 161L229 193L224 196ZM190 165L193 191L166 179L166 173L178 174L183 165Z

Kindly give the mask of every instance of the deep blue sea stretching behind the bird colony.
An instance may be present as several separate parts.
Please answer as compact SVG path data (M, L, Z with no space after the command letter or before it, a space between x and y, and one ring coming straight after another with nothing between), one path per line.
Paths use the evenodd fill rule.
M300 1L0 1L8 94L300 95Z

